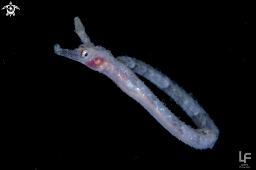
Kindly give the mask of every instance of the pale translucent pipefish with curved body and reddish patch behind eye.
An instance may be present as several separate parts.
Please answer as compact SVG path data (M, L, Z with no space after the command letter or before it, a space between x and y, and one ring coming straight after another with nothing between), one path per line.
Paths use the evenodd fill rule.
M205 110L181 87L172 82L169 77L141 61L131 59L128 56L121 56L118 61L110 51L103 47L95 47L86 35L78 17L75 18L75 30L83 42L79 49L61 49L56 44L55 53L79 61L92 70L99 71L111 78L127 95L146 108L166 130L184 143L196 149L213 148L219 134L217 127ZM198 129L187 126L175 117L131 69L148 78L174 99L195 122Z

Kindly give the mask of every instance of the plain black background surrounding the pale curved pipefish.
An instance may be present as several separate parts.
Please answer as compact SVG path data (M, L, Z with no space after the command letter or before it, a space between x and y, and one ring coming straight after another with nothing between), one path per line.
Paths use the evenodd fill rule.
M255 19L248 6L12 1L1 10L0 168L117 166L238 169L255 164ZM9 1L1 1L1 8ZM213 149L177 140L107 76L56 55L75 49L79 16L114 56L157 67L192 93L220 130ZM182 121L174 101L140 77ZM194 126L195 127L195 126ZM196 127L195 127L196 128Z

